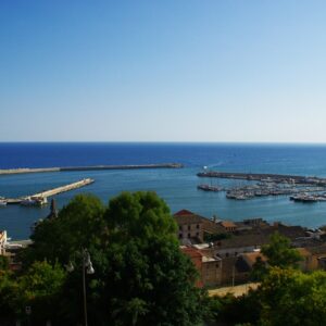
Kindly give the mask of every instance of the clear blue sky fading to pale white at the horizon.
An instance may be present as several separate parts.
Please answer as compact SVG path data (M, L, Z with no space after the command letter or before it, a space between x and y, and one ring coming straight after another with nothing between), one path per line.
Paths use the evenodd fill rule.
M326 142L326 1L2 0L0 141Z

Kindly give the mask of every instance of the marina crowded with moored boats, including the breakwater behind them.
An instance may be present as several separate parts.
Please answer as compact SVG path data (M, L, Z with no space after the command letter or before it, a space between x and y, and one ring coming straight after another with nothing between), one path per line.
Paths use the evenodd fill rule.
M246 185L223 188L201 184L198 189L205 191L225 191L227 199L248 200L258 197L289 196L294 202L313 203L326 201L326 179L297 175L277 174L244 174L203 172L199 177L216 177L226 179L241 179ZM258 181L258 183L255 183Z

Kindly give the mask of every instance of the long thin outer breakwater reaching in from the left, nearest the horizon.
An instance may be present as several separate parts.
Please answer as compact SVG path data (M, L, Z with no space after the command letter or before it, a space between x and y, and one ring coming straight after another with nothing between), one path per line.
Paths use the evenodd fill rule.
M140 165L90 165L90 166L63 166L63 167L39 167L39 168L2 168L0 175L45 173L45 172L73 172L73 171L101 171L101 170L140 170L140 168L181 168L180 163L140 164Z

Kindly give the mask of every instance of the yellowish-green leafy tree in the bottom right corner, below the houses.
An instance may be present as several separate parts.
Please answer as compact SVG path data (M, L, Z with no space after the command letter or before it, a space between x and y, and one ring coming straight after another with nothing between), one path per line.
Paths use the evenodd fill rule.
M272 267L259 289L261 324L326 325L326 273Z

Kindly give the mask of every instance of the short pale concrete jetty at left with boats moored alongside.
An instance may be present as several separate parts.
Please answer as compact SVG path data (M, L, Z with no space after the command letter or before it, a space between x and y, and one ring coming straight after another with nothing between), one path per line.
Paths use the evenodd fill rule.
M55 196L62 192L78 189L92 184L95 180L91 178L86 178L73 184L60 186L50 190L45 190L29 196L24 196L20 198L1 198L1 201L5 204L23 204L23 205L42 205L47 203L47 198Z

